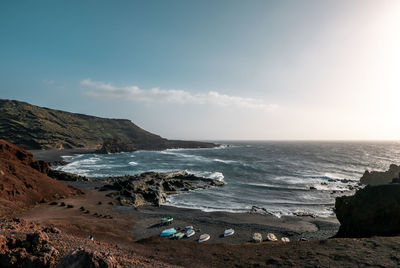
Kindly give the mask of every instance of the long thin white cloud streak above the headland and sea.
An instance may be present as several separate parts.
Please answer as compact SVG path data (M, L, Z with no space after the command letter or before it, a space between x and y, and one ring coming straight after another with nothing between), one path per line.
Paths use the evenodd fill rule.
M262 100L220 94L216 91L208 93L191 93L185 90L163 90L160 88L141 89L137 86L117 87L110 83L85 79L81 85L88 87L86 94L98 98L128 99L147 103L180 103L180 104L212 104L217 106L234 106L240 108L270 110L278 107Z

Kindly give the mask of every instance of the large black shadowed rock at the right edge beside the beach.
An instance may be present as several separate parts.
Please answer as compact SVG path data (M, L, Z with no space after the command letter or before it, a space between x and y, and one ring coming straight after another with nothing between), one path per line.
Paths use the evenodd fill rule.
M400 235L400 184L366 186L336 198L337 237Z

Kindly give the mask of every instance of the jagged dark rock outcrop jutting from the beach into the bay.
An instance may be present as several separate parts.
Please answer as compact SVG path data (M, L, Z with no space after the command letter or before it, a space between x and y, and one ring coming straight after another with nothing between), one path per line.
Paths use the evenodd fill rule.
M197 177L185 171L146 172L135 176L109 178L109 180L114 182L104 185L100 191L111 191L107 196L118 200L121 205L134 207L159 206L166 201L169 194L224 185L221 181Z

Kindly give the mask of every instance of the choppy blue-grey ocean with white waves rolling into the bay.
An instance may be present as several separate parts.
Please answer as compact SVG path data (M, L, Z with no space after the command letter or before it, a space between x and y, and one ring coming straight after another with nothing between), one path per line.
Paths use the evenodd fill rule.
M277 217L329 217L335 197L353 194L349 185L365 170L400 163L399 142L217 143L222 145L211 149L65 156L70 163L56 169L89 177L186 170L226 185L171 195L166 205L230 212L257 206Z

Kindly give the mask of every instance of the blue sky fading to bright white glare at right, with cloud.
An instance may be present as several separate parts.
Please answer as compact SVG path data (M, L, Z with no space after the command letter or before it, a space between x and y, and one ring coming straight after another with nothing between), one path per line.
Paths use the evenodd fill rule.
M166 138L400 140L400 1L0 1L0 98Z

